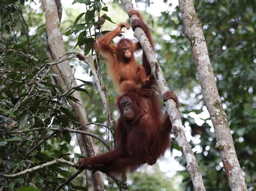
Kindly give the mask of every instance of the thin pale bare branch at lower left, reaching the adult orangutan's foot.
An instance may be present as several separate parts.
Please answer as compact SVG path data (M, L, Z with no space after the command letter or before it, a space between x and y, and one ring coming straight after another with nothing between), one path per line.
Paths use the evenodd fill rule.
M67 161L67 160L64 160L63 158L61 158L61 159L52 160L50 162L46 162L42 165L38 165L38 166L35 166L35 167L32 167L32 168L26 169L25 171L22 171L22 172L19 172L19 173L16 173L16 174L0 173L0 176L3 177L3 178L6 178L6 179L15 179L15 178L17 178L19 176L22 176L22 175L25 175L27 173L31 173L31 172L37 171L38 169L48 167L48 166L51 166L51 165L55 165L55 164L58 164L58 163L69 165L71 167L78 167L79 166L78 164L75 164L73 162L70 162L70 161Z

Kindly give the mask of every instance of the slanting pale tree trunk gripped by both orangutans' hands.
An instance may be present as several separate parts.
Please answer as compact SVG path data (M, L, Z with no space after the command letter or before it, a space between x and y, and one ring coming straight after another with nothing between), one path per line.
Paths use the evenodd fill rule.
M124 6L126 13L129 13L129 11L133 9L133 5L129 0L121 0L121 2ZM133 15L131 17L131 20L133 19L138 19L138 17L136 15ZM146 38L144 31L139 27L137 27L134 31L134 37L136 37L139 40L140 44L142 45L142 48L146 54L147 60L149 60L150 62L152 75L156 77L160 92L163 95L167 90L169 90L169 88L167 87L165 77L156 59L156 55L154 54L154 51L149 43L149 39ZM179 111L176 108L176 103L173 100L167 100L165 102L165 105L167 108L169 118L172 123L172 132L174 133L175 140L179 145L181 152L184 154L184 157L186 159L186 162L187 162L186 168L188 173L190 173L194 189L205 190L202 176L199 173L196 157L194 156L194 153L190 147L190 144L187 142L187 139L185 137L183 125L181 122L181 117L180 117Z

